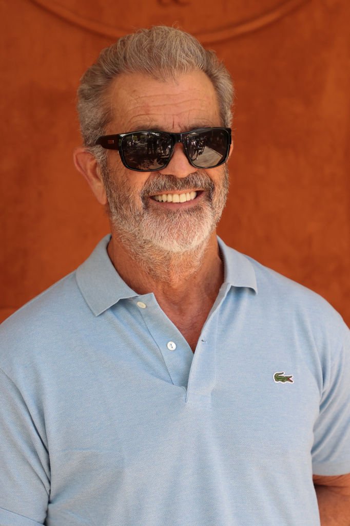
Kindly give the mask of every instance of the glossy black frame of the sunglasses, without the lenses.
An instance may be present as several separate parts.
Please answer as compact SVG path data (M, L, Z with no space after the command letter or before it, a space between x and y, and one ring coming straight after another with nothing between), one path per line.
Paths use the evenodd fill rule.
M187 150L187 145L186 145L186 137L188 135L190 135L191 133L194 133L194 132L200 132L200 131L210 131L210 130L222 130L222 131L225 131L225 133L227 134L227 137L228 137L228 144L227 144L227 151L226 151L226 154L224 156L224 158L220 161L220 163L214 165L214 166L196 166L193 161L190 159L190 155L188 153L188 150ZM170 152L169 152L169 158L166 162L166 164L164 164L162 167L160 168L152 168L152 169L147 169L147 170L142 170L142 169L139 169L139 168L131 168L128 163L126 162L125 160L125 157L124 157L124 154L123 154L123 149L122 149L122 143L123 143L123 139L125 137L128 137L130 135L135 135L136 133L157 133L157 134L164 134L164 135L167 135L171 138L171 149L170 149ZM231 128L224 128L224 127L221 127L221 126L212 126L212 127L206 127L206 128L195 128L193 130L190 130L190 131L184 131L183 133L171 133L170 131L162 131L162 130L137 130L137 131L128 131L128 133L119 133L119 134L114 134L114 135L101 135L101 137L99 137L96 141L96 145L99 145L99 146L102 146L102 148L105 148L107 150L118 150L119 152L119 155L120 155L120 158L121 158L121 162L122 164L128 168L129 170L133 170L133 171L159 171L159 170L162 170L163 168L166 168L168 166L168 164L170 163L171 161L171 158L172 158L172 154L173 154L173 151L174 151L174 147L177 143L181 143L183 145L183 151L184 151L184 154L186 155L187 157L187 160L189 161L190 165L194 166L194 168L198 168L198 169L203 169L203 170L208 170L210 168L217 168L218 166L221 166L222 164L224 164L228 157L229 157L229 153L230 153L230 146L231 146L231 143L232 143L232 139L231 139Z

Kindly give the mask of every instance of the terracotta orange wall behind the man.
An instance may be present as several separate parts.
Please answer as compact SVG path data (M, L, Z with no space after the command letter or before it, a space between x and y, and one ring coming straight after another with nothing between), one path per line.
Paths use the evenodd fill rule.
M219 234L350 322L349 24L337 0L1 2L1 316L75 269L108 231L76 173L78 80L135 27L178 24L237 92Z

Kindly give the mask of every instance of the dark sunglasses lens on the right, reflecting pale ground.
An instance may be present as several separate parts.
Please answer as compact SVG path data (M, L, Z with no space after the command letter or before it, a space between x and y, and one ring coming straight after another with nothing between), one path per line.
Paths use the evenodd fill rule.
M226 130L208 128L186 137L188 155L197 168L214 168L225 161L230 146Z

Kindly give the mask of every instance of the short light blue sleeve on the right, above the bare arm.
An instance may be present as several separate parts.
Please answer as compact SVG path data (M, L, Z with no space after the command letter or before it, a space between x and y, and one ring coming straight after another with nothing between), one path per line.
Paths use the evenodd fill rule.
M332 360L314 426L313 473L332 476L350 473L350 331L344 323L341 350Z

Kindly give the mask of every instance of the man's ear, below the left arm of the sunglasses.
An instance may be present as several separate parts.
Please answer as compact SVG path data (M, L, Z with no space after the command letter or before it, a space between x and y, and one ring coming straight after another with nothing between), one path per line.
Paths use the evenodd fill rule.
M96 199L101 205L107 204L105 185L95 157L83 147L76 148L73 154L74 164L87 180Z

